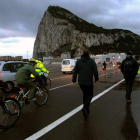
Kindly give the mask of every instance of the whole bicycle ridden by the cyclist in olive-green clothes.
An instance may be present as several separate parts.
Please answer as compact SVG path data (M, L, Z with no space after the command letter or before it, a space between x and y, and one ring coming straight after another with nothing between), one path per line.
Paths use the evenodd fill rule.
M44 105L49 98L49 93L47 88L45 88L44 86L40 86L38 82L35 81L35 79L33 80L35 82L35 88L36 91L34 93L34 98L36 100L33 100L33 102L35 102L37 105L41 106ZM20 107L22 108L24 106L24 104L28 104L28 93L30 90L27 90L26 87L19 85L20 87L20 91L19 92L11 92L9 94L7 94L7 97L10 98L15 98L16 100L19 101ZM25 92L26 91L26 92Z

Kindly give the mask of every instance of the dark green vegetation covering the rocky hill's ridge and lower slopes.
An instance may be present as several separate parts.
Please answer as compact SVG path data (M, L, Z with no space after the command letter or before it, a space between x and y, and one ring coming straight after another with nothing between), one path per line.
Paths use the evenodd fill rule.
M124 31L125 33L131 33L136 38L135 40L130 36L121 37L115 41L113 44L104 44L100 46L91 46L90 48L83 44L83 48L89 48L89 51L92 54L103 54L103 53L109 53L109 52L126 52L128 50L133 51L134 54L140 54L140 38L138 35L132 33L128 30L123 29L104 29L102 27L98 27L92 23L88 23L87 21L77 17L76 15L72 14L70 11L61 8L59 6L49 6L48 7L49 13L54 16L55 18L65 19L69 23L73 24L75 26L75 29L80 32L87 32L87 33L104 33L104 34L115 34L120 31ZM67 25L67 23L64 23ZM52 55L57 56L61 55L63 52L70 52L73 56L75 53L75 50L71 50L71 44L65 44L61 46L58 50L54 51Z

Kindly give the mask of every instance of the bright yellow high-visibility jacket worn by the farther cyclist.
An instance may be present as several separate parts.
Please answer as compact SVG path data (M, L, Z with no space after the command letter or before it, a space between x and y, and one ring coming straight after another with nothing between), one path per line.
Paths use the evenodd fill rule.
M39 73L39 75L41 75L41 71L49 74L49 71L44 67L43 63L39 60L36 60L37 62L37 66L35 71ZM35 76L33 74L31 74L31 77L34 78Z

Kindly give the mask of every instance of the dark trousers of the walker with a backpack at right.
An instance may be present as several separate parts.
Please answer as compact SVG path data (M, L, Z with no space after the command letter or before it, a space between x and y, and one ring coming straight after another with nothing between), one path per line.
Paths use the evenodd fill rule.
M132 86L135 80L135 77L129 77L129 76L124 76L125 78L125 83L126 83L126 100L131 100L131 92L132 92Z

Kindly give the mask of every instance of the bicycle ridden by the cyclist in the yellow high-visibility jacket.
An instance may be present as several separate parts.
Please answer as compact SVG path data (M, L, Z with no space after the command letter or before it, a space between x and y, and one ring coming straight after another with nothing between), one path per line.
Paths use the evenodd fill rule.
M48 76L46 75L45 72L41 72L41 74L42 74L41 76L42 76L42 79L44 80L45 86L49 90L51 88L51 85L52 85L51 79L48 78Z

